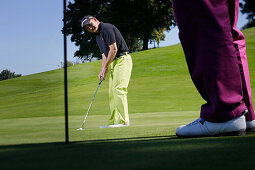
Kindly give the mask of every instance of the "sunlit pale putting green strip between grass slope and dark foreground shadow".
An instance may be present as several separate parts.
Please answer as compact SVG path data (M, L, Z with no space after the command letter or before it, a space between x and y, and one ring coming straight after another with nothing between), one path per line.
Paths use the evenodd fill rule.
M89 115L85 128L84 116L69 117L70 141L123 139L175 135L180 124L199 116L198 111L149 112L130 115L131 125L120 128L99 128L109 115ZM64 139L64 117L17 118L0 120L0 145L61 142Z

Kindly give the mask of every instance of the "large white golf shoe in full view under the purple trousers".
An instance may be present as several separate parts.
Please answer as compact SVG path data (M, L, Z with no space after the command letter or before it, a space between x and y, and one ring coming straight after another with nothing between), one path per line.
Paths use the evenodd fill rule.
M176 135L179 137L199 137L199 136L217 136L217 135L244 135L246 121L244 113L232 120L223 123L212 123L201 118L176 129Z

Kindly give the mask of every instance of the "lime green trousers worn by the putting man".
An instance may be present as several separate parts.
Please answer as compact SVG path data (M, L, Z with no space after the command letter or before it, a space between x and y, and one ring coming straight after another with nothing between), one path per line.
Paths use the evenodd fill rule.
M108 124L129 124L128 115L128 84L131 77L133 62L129 54L120 56L110 65L109 104L111 116Z

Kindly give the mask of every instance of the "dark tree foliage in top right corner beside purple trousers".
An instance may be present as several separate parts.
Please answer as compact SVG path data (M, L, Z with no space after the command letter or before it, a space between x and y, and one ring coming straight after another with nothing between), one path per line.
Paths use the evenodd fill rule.
M255 1L243 0L244 3L240 3L241 12L247 14L248 23L243 28L249 28L255 26Z

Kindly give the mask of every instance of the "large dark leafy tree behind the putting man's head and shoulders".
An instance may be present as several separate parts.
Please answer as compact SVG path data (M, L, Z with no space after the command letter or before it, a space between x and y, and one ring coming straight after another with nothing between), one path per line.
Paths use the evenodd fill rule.
M83 32L79 20L85 15L117 26L131 52L148 49L153 31L174 25L171 0L74 0L67 10L67 35L79 46L75 57L101 58L95 36Z

